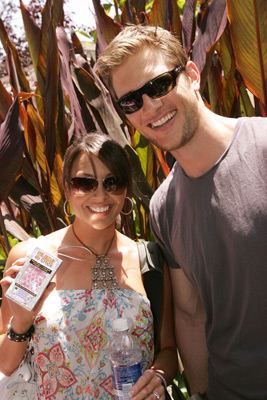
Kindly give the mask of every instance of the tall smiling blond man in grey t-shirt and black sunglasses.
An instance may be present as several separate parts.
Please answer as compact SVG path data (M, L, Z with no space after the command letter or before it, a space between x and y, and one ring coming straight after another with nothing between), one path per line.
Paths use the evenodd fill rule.
M212 113L159 27L125 28L97 69L129 121L176 163L150 203L192 393L267 399L267 120Z

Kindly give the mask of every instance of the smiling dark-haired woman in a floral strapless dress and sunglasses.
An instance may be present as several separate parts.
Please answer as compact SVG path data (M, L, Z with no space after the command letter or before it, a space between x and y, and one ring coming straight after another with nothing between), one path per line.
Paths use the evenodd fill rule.
M66 152L63 183L65 212L72 210L73 224L19 243L8 257L3 292L34 247L63 262L34 311L3 297L0 370L10 375L28 344L28 339L10 340L10 330L6 334L12 317L10 326L17 335L31 332L34 325L36 399L112 399L108 344L114 319L126 317L140 342L145 371L131 389L132 398L164 399L161 376L171 382L177 371L171 290L165 268L160 348L153 355L153 319L137 245L115 229L117 217L131 204L127 154L106 135L85 135Z

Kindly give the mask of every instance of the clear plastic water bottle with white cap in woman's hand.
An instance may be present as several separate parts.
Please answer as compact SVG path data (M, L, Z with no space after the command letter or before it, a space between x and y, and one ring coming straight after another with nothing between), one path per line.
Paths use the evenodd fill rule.
M114 335L109 347L115 400L130 399L129 391L142 375L139 343L129 333L126 318L114 321Z

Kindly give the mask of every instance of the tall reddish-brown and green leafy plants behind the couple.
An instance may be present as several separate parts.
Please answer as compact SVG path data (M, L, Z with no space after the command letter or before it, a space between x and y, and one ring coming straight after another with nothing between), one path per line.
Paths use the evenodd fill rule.
M71 222L63 212L62 159L71 140L91 130L110 134L131 158L135 210L122 220L122 230L134 239L153 239L149 199L173 159L128 123L93 69L124 25L158 25L174 32L201 71L201 93L214 112L266 116L266 0L114 0L114 18L107 14L110 4L93 4L94 58L86 56L74 31L67 34L71 22L63 0L36 0L31 9L19 2L27 44L23 51L7 16L0 18L11 88L0 81L1 259L16 241ZM34 82L24 70L29 58Z

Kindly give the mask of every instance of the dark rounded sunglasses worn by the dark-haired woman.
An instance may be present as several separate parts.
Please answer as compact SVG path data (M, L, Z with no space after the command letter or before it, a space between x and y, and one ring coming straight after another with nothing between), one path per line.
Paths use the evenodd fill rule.
M113 176L106 179L75 177L71 178L70 185L76 195L83 196L86 195L86 193L94 192L99 182L102 183L107 192L115 194L122 192L127 186L125 181Z

